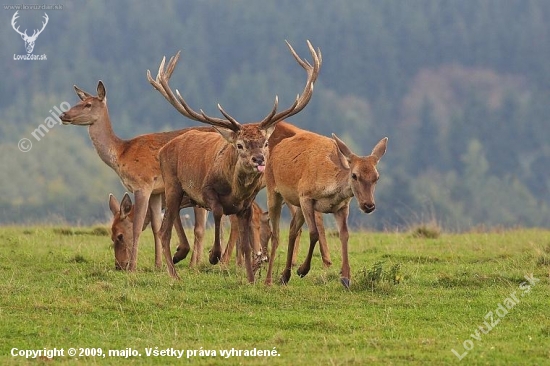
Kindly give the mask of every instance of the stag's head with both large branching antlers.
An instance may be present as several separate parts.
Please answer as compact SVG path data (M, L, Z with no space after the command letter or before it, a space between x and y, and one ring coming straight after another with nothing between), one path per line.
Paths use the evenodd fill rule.
M213 126L237 152L237 167L239 167L241 171L246 173L252 173L254 171L263 173L267 160L267 140L269 136L278 122L300 112L307 105L313 94L313 85L317 80L322 63L321 51L319 49L315 51L309 41L307 41L307 44L313 59L313 65L308 61L302 60L294 51L290 43L286 42L286 44L296 61L307 72L308 78L306 86L302 94L298 94L290 108L279 113L277 113L278 98L275 97L273 109L259 123L241 124L235 118L231 117L231 115L229 115L219 104L218 109L225 118L210 117L206 115L202 109L199 112L191 109L177 89L176 95L174 95L168 85L168 81L174 72L181 51L170 59L166 67L166 57L162 59L156 80L151 77L150 71L147 70L147 79L149 83L151 83L151 85L153 85L153 87L182 115L192 120Z

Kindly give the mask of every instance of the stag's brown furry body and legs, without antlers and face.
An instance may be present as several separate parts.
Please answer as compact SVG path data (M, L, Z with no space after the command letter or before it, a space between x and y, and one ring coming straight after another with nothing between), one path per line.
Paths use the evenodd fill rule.
M258 125L243 125L247 131L258 129ZM247 131L249 132L249 131ZM254 135L247 133L247 135ZM236 137L236 136L235 136ZM220 220L222 215L236 214L239 222L239 237L245 256L249 281L254 280L250 263L250 220L251 205L256 194L263 187L262 173L254 166L252 158L267 152L267 134L260 134L259 140L244 140L236 137L250 151L238 152L237 148L217 132L191 131L168 142L159 153L160 166L166 182L166 214L161 227L161 239L168 270L177 278L170 259L171 227L179 203L188 196L192 203L204 207L214 216L216 226L214 247L210 252L210 263L221 257ZM200 154L193 148L200 141Z

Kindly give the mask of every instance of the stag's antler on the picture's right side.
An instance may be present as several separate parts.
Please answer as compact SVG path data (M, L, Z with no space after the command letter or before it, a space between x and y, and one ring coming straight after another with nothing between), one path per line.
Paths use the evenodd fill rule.
M288 43L288 41L285 41L288 48L290 49L290 52L292 53L292 56L298 61L300 66L307 72L307 81L306 86L304 87L304 91L302 92L302 95L298 94L296 96L296 100L294 103L290 106L290 108L277 113L277 106L279 103L278 97L275 97L275 103L273 105L273 109L271 110L271 113L269 113L263 120L260 122L260 127L263 129L267 129L271 126L273 126L275 123L282 121L285 118L288 118L290 116L295 115L296 113L300 112L302 109L305 108L305 106L309 103L309 100L311 99L311 96L313 95L313 84L315 84L315 81L317 80L317 76L319 75L319 69L321 68L321 64L323 63L323 56L321 55L321 50L317 48L317 51L313 48L311 45L311 42L307 41L307 46L309 48L309 52L311 53L311 57L313 59L313 66L306 60L302 60L300 56L294 51L294 48Z

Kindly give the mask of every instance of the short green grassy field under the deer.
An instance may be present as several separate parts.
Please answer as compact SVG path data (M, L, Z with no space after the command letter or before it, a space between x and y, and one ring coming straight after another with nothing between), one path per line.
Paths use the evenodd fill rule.
M331 268L317 254L306 277L266 287L265 269L249 285L234 265L188 260L173 281L154 268L149 230L138 272L123 273L102 228L0 228L0 363L550 363L550 231L355 232L350 291L329 242Z

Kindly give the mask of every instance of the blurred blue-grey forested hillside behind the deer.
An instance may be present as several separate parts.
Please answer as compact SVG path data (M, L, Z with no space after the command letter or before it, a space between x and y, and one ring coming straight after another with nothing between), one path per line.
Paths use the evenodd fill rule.
M53 107L77 102L73 84L95 94L103 80L122 138L194 126L145 77L181 49L171 85L190 105L254 121L275 95L286 108L300 92L305 73L284 40L311 59L309 39L323 66L290 122L335 132L360 154L389 137L377 210L353 202L353 225L550 226L550 1L51 3L63 10L46 11L34 49L46 61L13 59L25 54L15 10L0 13L0 223L105 222L108 194L122 196L85 127L31 136ZM20 11L21 30L43 13Z

